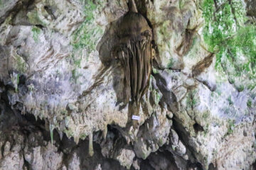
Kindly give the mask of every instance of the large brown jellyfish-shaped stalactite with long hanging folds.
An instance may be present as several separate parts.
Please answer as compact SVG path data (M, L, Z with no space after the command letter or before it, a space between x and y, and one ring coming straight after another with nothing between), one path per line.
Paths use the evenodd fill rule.
M129 12L117 22L117 45L112 55L124 69L123 101L139 104L149 85L151 65L154 58L152 30L146 19L137 13L134 1L129 1Z

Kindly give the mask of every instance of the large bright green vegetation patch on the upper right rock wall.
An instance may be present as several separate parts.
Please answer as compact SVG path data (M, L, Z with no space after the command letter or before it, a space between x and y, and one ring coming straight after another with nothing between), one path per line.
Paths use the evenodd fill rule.
M215 69L239 77L239 81L249 79L247 86L252 86L256 78L256 26L247 22L243 1L215 2L204 0L201 4L206 21L203 39L208 51L216 53Z

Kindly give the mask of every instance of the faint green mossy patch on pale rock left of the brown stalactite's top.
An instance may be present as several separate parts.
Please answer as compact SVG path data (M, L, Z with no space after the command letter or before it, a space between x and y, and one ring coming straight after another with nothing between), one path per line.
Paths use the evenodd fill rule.
M85 48L89 53L92 52L92 50L95 50L97 40L99 40L103 34L102 28L100 26L97 26L94 17L94 12L99 10L100 6L102 6L102 2L100 2L100 0L85 1L84 13L86 18L82 25L78 28L78 30L75 31L73 35L74 50L80 50Z

